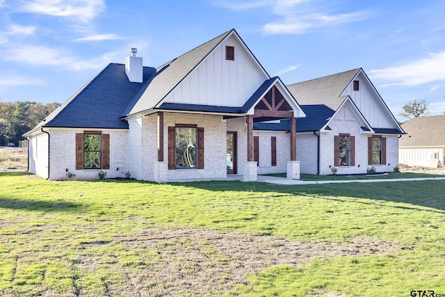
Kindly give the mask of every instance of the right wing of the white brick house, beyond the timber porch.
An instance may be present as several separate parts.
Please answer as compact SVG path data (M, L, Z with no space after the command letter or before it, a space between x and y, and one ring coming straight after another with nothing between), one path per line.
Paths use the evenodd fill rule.
M357 174L371 166L391 172L398 166L404 131L361 68L287 88L307 115L296 124L301 173L330 175L335 167L337 174ZM254 129L264 135L289 131L289 121L257 123Z

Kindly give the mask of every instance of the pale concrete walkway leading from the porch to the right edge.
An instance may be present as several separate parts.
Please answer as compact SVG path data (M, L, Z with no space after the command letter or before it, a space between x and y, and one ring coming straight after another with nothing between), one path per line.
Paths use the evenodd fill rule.
M430 179L445 179L445 177L415 177L415 178L400 178L400 179L348 179L348 180L320 180L320 181L302 181L300 179L286 179L284 177L270 177L266 175L258 175L257 182L267 182L268 184L341 184L350 182L410 182ZM229 180L243 180L243 175L227 175L220 179L170 179L168 182L209 182L213 180L229 181Z

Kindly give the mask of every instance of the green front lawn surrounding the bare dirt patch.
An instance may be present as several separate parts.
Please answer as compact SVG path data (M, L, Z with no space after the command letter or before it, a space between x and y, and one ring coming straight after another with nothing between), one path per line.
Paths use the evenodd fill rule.
M218 246L186 236L151 245L141 241L147 232L163 227L211 228L265 239L275 235L308 244L369 236L400 247L395 254L316 257L308 263L270 266L244 275L229 291L207 295L410 296L412 290L445 294L442 180L153 184L49 182L3 172L0 184L0 295L130 296L136 279L165 262L170 268L183 266L182 277L193 282L203 271L177 254L179 248L201 250L209 258L209 272L212 265L228 267L235 261ZM138 241L146 246L136 245ZM165 259L163 252L172 258ZM220 274L222 280L231 278L230 273ZM142 283L140 295L154 288L159 295L171 289L156 279ZM195 294L189 286L176 295Z

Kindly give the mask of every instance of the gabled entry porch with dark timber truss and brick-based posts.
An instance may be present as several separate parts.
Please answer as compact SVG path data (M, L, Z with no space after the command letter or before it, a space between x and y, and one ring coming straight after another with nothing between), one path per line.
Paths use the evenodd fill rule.
M303 117L305 114L287 92L280 79L274 78L268 82L268 85L259 88L247 102L251 104L248 111L250 114L243 117L247 129L244 136L247 159L242 168L238 166L238 170L236 170L236 143L239 141L236 141L236 131L230 131L229 124L227 127L227 174L243 174L245 182L257 181L259 169L261 172L268 170L273 172L274 168L277 170L277 165L281 168L281 172L287 173L287 178L300 178L300 162L296 159L296 118ZM229 122L234 116L224 118ZM257 133L254 133L254 123L284 119L289 119L291 123L288 137L280 137L279 134L272 133L261 139ZM267 152L264 152L265 149ZM285 150L285 152L280 150ZM265 154L267 155L266 162L264 161ZM283 158L286 159L284 168ZM261 163L259 163L260 159L262 159ZM266 168L267 166L269 168Z

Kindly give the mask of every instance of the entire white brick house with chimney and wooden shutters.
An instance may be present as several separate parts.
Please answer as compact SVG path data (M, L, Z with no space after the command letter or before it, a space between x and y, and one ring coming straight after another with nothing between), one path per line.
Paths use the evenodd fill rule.
M362 69L284 86L232 29L157 68L131 49L24 136L47 179L167 182L387 172L400 134Z

